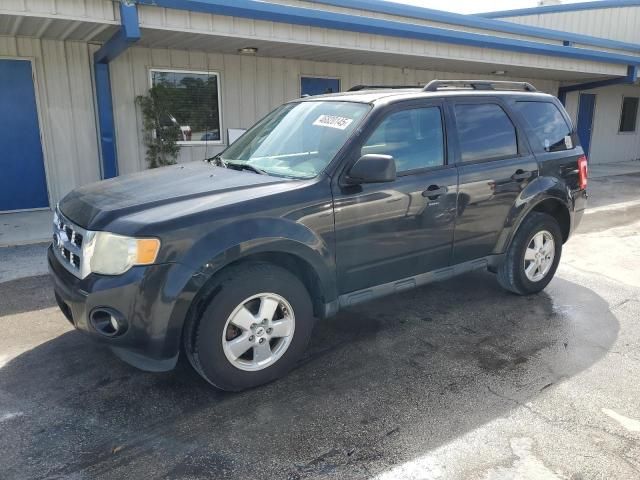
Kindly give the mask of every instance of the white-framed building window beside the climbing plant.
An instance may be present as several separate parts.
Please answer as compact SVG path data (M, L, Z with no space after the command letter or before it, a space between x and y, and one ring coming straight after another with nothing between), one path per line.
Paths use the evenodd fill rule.
M162 122L180 127L179 144L222 142L218 73L153 69L150 77L166 106Z

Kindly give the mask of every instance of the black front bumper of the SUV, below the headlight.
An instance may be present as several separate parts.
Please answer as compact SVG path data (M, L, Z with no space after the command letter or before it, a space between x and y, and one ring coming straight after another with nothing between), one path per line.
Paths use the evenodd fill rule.
M49 247L49 273L58 306L81 332L108 345L121 359L148 371L171 370L178 360L192 274L180 264L134 267L123 275L72 275ZM101 334L89 320L98 307L116 310L128 324L120 336Z

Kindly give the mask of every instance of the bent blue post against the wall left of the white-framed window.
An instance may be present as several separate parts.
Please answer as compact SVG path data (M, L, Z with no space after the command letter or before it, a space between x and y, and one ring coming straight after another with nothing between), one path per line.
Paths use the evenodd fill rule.
M138 7L120 2L120 22L121 26L118 31L93 55L102 152L102 178L112 178L118 175L118 152L109 62L129 48L129 45L140 40Z

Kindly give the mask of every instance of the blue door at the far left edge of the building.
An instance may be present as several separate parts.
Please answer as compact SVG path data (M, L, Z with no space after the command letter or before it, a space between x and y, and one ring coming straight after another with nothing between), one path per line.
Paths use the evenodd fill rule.
M0 211L49 206L28 60L0 60Z

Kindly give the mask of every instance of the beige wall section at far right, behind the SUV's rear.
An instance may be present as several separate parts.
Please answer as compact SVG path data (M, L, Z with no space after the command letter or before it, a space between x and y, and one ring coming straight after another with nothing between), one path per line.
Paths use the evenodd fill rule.
M584 93L596 94L589 160L592 163L611 163L640 159L640 119L637 120L635 132L618 132L622 98L640 97L640 87L620 85L597 88ZM579 98L580 92L567 95L567 112L574 124L577 124Z

